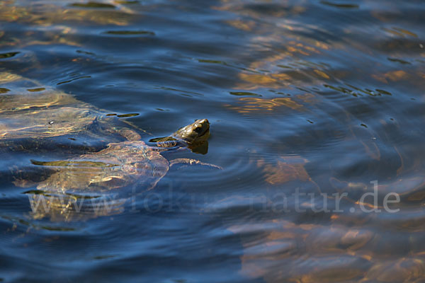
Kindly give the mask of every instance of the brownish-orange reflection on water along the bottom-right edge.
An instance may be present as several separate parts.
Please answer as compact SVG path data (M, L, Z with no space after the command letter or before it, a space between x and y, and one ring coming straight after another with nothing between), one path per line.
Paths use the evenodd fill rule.
M359 226L347 228L339 219L339 214L332 215L331 226L280 219L230 226L229 231L242 235L240 272L266 282L305 283L416 282L425 276L423 253L387 259L377 246L390 240L373 227L358 222ZM261 238L250 239L250 233L260 233Z

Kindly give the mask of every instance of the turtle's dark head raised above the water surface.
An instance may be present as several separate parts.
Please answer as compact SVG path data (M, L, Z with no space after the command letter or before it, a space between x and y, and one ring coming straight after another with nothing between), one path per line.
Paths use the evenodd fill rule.
M207 119L196 120L191 125L180 128L171 136L186 141L189 146L202 144L210 137L210 122Z

